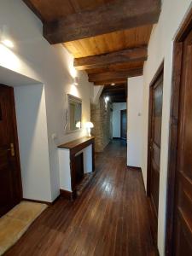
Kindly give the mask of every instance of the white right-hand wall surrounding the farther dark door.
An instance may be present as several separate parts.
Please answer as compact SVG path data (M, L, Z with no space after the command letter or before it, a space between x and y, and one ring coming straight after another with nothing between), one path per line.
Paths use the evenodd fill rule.
M169 139L169 119L172 86L172 42L182 25L184 16L189 11L191 0L164 0L160 20L154 26L149 45L148 61L144 65L143 97L143 178L147 184L147 147L148 147L148 86L154 77L161 61L164 60L164 91L160 155L160 199L158 220L158 247L160 255L165 252L166 231L166 177Z

